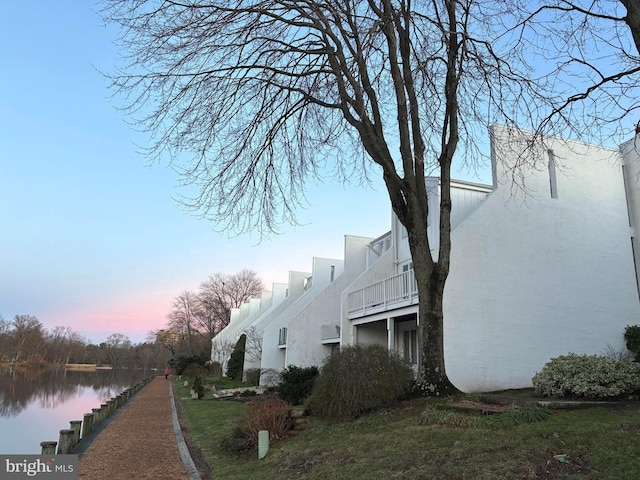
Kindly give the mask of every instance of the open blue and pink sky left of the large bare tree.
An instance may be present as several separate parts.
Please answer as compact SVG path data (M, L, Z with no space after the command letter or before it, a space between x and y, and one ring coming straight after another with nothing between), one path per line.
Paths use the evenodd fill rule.
M255 270L267 289L344 235L377 237L391 210L370 188L313 185L297 227L230 237L185 212L175 173L109 98L118 52L90 0L22 0L0 18L0 315L36 316L100 343L164 328L173 299L215 273ZM477 181L477 179L476 179ZM184 192L183 192L184 193Z

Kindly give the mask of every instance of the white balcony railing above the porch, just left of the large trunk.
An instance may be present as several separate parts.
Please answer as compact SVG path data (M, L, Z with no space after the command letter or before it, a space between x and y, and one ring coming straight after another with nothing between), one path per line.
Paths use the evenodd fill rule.
M398 302L412 303L417 298L415 275L409 270L349 293L347 305L349 315L366 314L367 310L384 310Z

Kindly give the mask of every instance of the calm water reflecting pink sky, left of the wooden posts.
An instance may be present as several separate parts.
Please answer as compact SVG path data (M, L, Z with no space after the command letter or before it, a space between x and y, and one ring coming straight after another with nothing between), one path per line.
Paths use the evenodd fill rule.
M148 377L142 370L0 368L0 454L39 454L72 420Z

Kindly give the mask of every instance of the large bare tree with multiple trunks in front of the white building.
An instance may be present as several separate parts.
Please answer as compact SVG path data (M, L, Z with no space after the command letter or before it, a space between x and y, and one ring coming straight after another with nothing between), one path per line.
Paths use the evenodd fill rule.
M419 294L418 384L446 374L443 295L451 250L451 168L482 159L493 122L537 125L553 85L536 82L509 1L106 0L125 63L110 78L223 228L295 222L310 179L381 174L406 227ZM148 110L150 108L150 110ZM136 116L141 114L141 116ZM192 161L184 161L185 152ZM425 178L440 176L438 246Z

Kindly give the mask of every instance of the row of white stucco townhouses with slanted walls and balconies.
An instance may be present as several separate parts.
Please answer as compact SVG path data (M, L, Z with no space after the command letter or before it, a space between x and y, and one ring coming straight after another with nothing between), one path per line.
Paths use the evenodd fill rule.
M550 358L569 352L622 350L625 327L640 323L635 141L613 150L550 138L522 156L526 134L496 126L490 137L492 185L451 186L445 363L467 392L528 387ZM438 179L427 188L429 235L437 240ZM346 237L339 266L314 263L314 281L320 275L323 283L313 298L301 295L247 322L264 325L263 368L320 365L331 348L371 342L417 363L411 255L391 218L390 232L377 239Z

